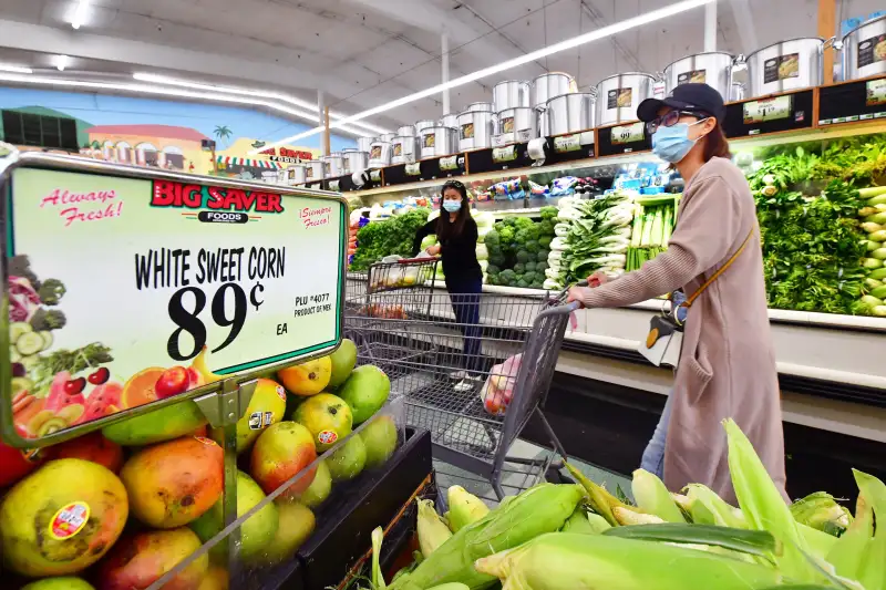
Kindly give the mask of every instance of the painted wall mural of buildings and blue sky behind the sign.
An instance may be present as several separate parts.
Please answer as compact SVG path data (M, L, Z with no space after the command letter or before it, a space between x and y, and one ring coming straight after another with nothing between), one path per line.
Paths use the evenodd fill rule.
M320 135L256 148L308 125L261 111L95 93L0 87L0 138L20 149L76 153L107 162L245 179L269 178L320 155ZM206 141L215 142L215 149ZM356 146L332 135L331 149Z

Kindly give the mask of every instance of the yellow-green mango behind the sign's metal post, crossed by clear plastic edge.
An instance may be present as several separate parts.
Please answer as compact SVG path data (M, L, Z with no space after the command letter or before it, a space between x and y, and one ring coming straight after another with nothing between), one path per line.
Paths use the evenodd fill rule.
M237 472L237 518L264 501L265 493L255 480L243 472ZM224 528L222 498L202 517L190 524L190 528L203 542L208 541ZM279 515L277 505L267 503L240 526L240 557L249 560L260 555L277 535ZM216 547L220 547L216 546Z

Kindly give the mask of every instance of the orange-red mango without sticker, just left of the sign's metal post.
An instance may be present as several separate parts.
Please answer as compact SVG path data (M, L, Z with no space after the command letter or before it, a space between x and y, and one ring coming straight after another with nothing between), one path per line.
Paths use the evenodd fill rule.
M214 441L186 436L140 451L120 477L135 518L153 528L176 528L222 497L225 453Z

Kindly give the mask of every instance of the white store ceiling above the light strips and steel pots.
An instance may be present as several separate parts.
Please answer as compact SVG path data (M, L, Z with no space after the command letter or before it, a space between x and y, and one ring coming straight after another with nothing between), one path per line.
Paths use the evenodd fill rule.
M674 0L89 0L74 31L76 1L0 0L0 61L49 66L47 54L64 53L74 71L285 87L310 101L323 90L351 113L439 83L443 31L456 77ZM749 53L814 35L816 8L817 0L719 0L718 49ZM883 0L838 0L838 18L883 8ZM702 51L703 22L703 9L693 10L501 75L565 71L584 87L619 72L660 71ZM452 110L490 100L497 81L454 89ZM436 97L371 121L440 114Z

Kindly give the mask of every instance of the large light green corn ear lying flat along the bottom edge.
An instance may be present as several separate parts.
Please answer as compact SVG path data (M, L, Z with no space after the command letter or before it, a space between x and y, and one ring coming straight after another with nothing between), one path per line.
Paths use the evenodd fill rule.
M668 544L604 535L543 535L476 562L503 590L755 590L782 581L771 567Z

